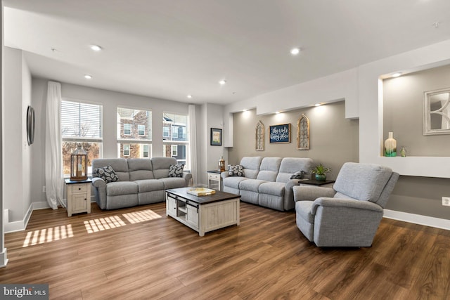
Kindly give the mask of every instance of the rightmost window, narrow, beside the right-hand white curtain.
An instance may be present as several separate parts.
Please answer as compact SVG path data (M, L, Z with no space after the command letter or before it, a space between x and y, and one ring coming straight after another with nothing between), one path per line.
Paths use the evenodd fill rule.
M165 157L174 157L177 162L187 164L188 116L165 112L162 117L162 144Z

